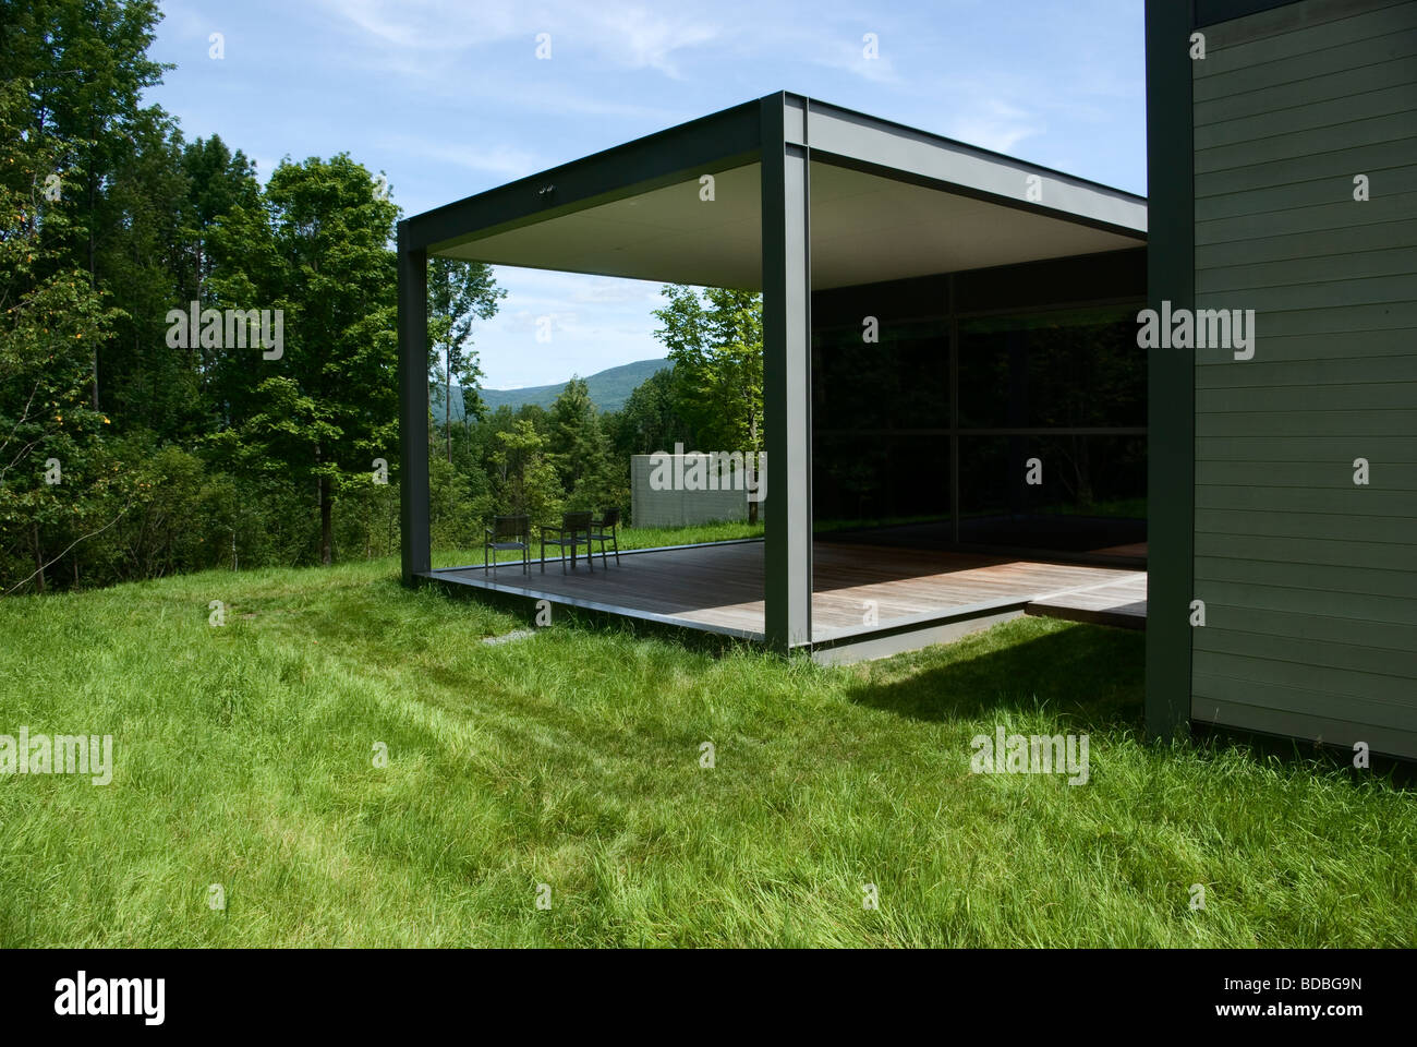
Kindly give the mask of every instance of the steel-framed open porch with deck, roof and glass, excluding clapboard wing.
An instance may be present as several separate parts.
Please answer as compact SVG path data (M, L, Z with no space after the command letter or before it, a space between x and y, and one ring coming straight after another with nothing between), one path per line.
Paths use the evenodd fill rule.
M1129 193L792 94L408 218L404 576L832 661L1029 610L1139 624L1145 243ZM765 541L435 569L429 255L761 289Z

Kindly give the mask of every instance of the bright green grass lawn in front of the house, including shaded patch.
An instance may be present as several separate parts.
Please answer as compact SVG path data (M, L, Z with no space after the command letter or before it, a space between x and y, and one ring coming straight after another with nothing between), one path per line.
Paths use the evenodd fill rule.
M1026 619L847 668L574 623L490 646L530 623L394 575L0 602L0 733L116 758L0 777L0 945L1417 941L1411 793L1142 743L1141 634ZM1088 733L1091 780L971 775L996 724Z

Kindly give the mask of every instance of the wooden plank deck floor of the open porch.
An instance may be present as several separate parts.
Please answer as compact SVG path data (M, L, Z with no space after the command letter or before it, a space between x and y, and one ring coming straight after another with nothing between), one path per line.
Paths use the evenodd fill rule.
M648 549L611 556L588 570L537 562L523 575L503 563L429 572L468 585L553 604L587 607L687 628L762 640L762 542ZM1146 572L920 549L816 542L812 643L900 631L945 617L998 619L1030 613L1139 628L1146 619Z

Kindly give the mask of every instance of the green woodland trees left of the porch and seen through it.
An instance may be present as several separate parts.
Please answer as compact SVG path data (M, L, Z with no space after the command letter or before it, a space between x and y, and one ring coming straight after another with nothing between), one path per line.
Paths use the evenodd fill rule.
M262 187L220 135L184 139L143 104L167 68L147 55L159 18L150 0L35 0L0 24L0 593L398 548L398 209L344 153L286 159ZM428 275L435 546L496 514L628 512L631 454L757 447L754 295L680 289L674 367L622 410L572 377L550 407L487 411L473 335L506 292L482 264ZM278 359L220 319L174 338L193 304L279 312ZM614 369L626 387L636 366Z

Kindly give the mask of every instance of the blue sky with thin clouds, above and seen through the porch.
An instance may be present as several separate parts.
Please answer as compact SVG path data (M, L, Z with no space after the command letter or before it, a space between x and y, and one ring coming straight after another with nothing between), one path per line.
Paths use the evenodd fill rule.
M1146 192L1142 0L167 0L149 98L265 179L349 152L405 214L796 91ZM208 57L224 34L225 57ZM551 35L551 58L536 38ZM863 58L874 33L880 57ZM659 285L499 268L492 389L663 355ZM550 345L536 318L554 316Z

